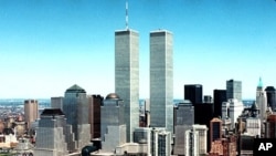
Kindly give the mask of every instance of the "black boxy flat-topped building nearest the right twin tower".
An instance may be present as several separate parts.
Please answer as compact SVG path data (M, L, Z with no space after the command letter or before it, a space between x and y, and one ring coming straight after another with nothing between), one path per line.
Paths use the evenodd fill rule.
M184 100L190 100L193 105L202 103L202 85L187 84L184 85Z

